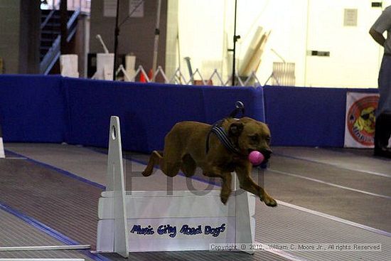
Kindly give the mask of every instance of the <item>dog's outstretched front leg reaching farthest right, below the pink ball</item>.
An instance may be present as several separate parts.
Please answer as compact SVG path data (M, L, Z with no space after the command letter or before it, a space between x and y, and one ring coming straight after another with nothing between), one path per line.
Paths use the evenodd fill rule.
M235 172L237 174L237 179L239 179L240 188L250 193L253 193L256 196L259 196L261 201L263 201L267 206L270 207L277 206L277 202L274 200L274 198L269 196L269 194L261 186L259 186L251 179L250 177L251 170L252 170L251 165L238 166L235 169Z

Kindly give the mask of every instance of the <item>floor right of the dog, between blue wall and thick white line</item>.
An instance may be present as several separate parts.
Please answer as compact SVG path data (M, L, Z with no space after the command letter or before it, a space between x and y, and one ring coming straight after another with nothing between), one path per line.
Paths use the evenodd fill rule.
M276 198L391 233L391 160L365 150L274 152L265 186Z

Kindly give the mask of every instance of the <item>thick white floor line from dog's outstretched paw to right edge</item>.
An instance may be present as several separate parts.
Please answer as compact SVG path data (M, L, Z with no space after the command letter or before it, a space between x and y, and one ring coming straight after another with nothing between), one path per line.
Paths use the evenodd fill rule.
M368 230L370 232L373 232L373 233L376 233L376 234L379 234L379 235L385 235L386 237L389 237L391 238L391 233L385 231L385 230L380 230L380 229L377 229L377 228L372 228L368 225L362 225L362 224L359 224L359 223L355 223L353 221L350 221L350 220L346 220L346 219L343 219L343 218L338 218L334 215L328 215L326 213L322 213L322 212L318 212L318 211L312 211L311 209L309 208L303 208L301 206L296 206L296 205L293 205L291 203L286 203L284 201L277 201L277 203L279 203L279 205L282 205L282 206L286 206L286 207L289 207L289 208L294 208L298 211L304 211L306 213L310 213L310 214L313 214L313 215L318 215L322 218L328 218L328 219L331 219L331 220L334 220L334 221L337 221L337 222L340 222L340 223L344 223L346 225L353 225L354 227L356 228L362 228L364 230Z

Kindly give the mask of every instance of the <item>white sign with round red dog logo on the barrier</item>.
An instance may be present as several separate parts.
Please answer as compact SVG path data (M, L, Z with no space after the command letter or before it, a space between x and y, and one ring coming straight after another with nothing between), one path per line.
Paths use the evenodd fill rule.
M373 148L375 112L379 95L348 92L346 95L345 145L348 148Z

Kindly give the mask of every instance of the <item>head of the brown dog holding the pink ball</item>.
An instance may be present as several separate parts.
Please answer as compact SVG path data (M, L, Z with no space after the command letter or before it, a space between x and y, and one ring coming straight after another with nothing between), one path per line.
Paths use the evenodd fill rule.
M232 119L228 126L228 136L235 139L237 149L242 154L248 155L251 151L260 151L264 155L265 161L272 154L270 129L263 122L249 117Z

